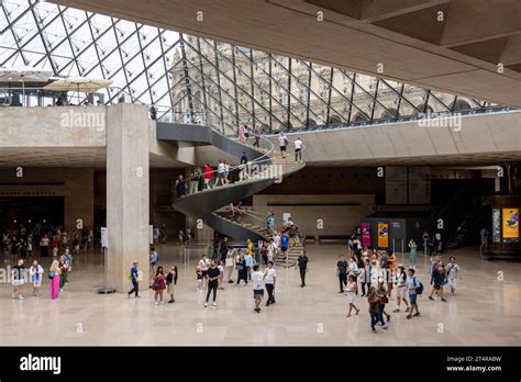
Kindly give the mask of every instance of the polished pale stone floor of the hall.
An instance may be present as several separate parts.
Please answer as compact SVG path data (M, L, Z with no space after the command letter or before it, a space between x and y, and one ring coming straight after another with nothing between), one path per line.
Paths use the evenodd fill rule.
M152 292L142 299L124 294L99 295L102 265L98 255L75 258L69 284L52 301L45 276L44 296L26 293L11 299L11 286L0 285L1 345L521 345L521 263L489 262L474 249L452 251L463 280L448 303L419 300L421 317L392 314L389 329L369 328L368 304L358 297L358 316L346 317L346 299L337 293L335 262L344 246L308 245L308 286L299 286L299 272L279 269L277 303L253 312L252 289L225 285L217 307L203 307L196 292L192 256L181 262L179 247L163 246L165 265L179 267L176 303L156 306ZM446 261L448 254L443 254ZM401 262L401 255L398 255ZM426 263L419 256L419 276L429 284ZM426 292L425 292L426 293ZM396 302L391 301L391 308ZM391 311L388 308L388 311Z

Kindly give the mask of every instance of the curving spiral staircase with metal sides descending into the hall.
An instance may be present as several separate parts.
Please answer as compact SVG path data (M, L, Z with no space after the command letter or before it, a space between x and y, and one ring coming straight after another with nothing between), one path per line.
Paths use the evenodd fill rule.
M260 240L271 237L266 231L266 223L259 216L245 213L243 215L245 220L242 222L229 218L226 213L229 205L258 193L276 182L284 181L285 177L300 171L306 166L303 161L296 161L292 153L288 153L285 157L277 155L274 144L267 138L262 137L260 147L254 147L252 141L250 144L247 142L241 143L236 138L224 136L208 126L157 123L157 138L160 141L191 142L197 145L213 145L237 157L237 159L245 151L247 157L252 159L246 166L250 173L248 179L176 198L171 206L185 215L201 218L214 231L235 240L245 241L248 238ZM241 166L235 166L231 167L230 171L241 171ZM212 176L211 183L214 182L217 171L213 171ZM186 179L185 181L188 191L190 190L190 182L197 181L197 179ZM302 243L301 237L295 237L291 250L288 251L288 259L285 259L286 262L292 262L303 252ZM279 254L280 256L281 254ZM280 260L280 258L276 260Z

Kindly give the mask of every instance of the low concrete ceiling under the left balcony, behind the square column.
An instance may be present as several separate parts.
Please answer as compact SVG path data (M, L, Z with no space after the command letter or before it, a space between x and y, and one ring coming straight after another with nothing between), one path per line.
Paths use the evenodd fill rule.
M186 164L151 153L151 168L186 167ZM106 147L36 147L9 148L0 150L0 168L5 167L64 167L64 168L104 168Z

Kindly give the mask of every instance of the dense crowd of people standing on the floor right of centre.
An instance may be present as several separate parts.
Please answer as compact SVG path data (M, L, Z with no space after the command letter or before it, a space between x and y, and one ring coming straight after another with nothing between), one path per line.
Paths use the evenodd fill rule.
M336 276L340 291L347 296L347 317L352 316L353 310L358 315L356 305L358 284L362 289L362 297L367 299L370 316L370 328L377 333L376 325L380 324L384 329L388 328L391 319L390 313L386 311L387 304L396 300L396 308L392 313L402 312L404 307L406 317L421 316L418 306L419 296L423 293L423 283L417 276L417 244L413 239L409 241L409 266L397 262L392 250L370 250L362 246L359 237L353 235L348 240L348 256L341 255L336 261ZM444 286L448 285L451 296L456 293L457 280L461 279L461 268L454 256L448 259L445 267L439 255L430 252L431 263L428 269L430 277L429 301L446 303Z

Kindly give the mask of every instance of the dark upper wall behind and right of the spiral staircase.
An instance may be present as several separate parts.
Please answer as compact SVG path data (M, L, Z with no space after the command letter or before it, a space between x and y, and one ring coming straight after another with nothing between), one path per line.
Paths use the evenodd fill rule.
M375 194L385 202L386 182L376 167L306 167L260 192L263 194Z

